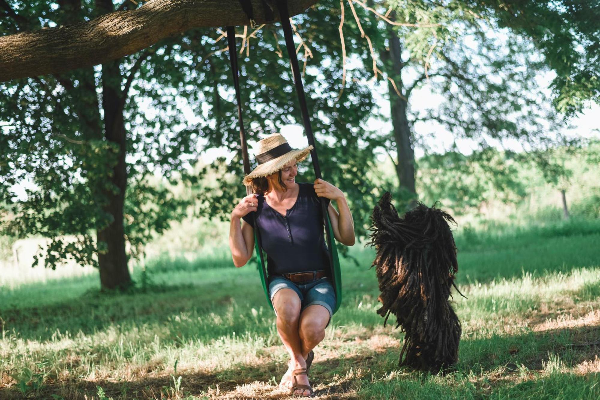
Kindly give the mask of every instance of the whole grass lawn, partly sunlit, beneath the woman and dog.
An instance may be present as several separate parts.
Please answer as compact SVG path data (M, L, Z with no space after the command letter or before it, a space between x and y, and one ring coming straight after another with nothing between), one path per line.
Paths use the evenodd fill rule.
M398 368L403 334L375 312L373 251L355 248L315 350L319 399L600 398L600 223L469 235L457 238L468 299L454 298L455 371ZM148 292L121 295L98 294L95 275L0 288L0 399L287 396L256 268L163 266L151 278Z

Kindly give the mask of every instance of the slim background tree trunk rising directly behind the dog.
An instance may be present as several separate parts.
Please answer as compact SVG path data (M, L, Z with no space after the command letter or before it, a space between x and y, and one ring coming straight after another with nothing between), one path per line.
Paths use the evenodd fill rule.
M388 25L389 51L382 50L382 60L388 65L388 75L394 80L394 84L388 81L389 102L392 117L392 135L396 143L397 163L396 174L400 182L401 195L409 202L416 200L415 189L415 151L412 145L412 132L410 132L409 120L406 112L408 108L407 98L404 96L402 68L404 63L401 59L401 44L394 29ZM391 68L391 71L389 70ZM400 92L400 95L396 92Z

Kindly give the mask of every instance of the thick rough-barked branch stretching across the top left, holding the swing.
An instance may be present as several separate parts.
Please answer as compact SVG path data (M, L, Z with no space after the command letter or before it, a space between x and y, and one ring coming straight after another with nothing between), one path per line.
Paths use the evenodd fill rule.
M289 0L290 15L315 3ZM252 4L257 23L277 20L265 20L262 0L252 0ZM277 9L273 15L279 15ZM150 0L137 10L0 37L0 82L109 62L191 28L247 24L238 0Z

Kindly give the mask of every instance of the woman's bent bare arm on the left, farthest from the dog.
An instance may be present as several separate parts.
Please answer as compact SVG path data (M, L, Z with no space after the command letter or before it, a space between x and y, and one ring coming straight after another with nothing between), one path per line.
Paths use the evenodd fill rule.
M231 213L231 224L229 226L229 249L233 258L233 265L244 266L250 260L254 251L254 229L244 220L239 225L243 216L256 211L258 199L254 195L246 196Z

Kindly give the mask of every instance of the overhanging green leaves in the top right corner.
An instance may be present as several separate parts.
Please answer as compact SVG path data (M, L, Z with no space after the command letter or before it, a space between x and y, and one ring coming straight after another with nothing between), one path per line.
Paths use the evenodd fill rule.
M459 48L459 51L464 51L467 48L476 49L478 46L485 49L494 42L494 37L502 38L506 35L503 40L508 46L488 47L488 50L500 50L501 52L505 49L508 50L509 53L506 54L504 61L493 59L498 54L483 51L478 52L476 59L472 59L471 63L467 61L469 54L465 51L464 56L467 58L464 60L466 62L455 65L460 65L462 71L468 71L463 75L466 78L463 82L473 89L486 87L488 95L493 94L488 98L491 101L494 96L502 97L504 95L503 90L498 89L508 89L509 91L518 87L524 89L529 84L521 79L521 77L527 77L529 72L510 71L515 66L512 62L517 61L515 57L521 58L521 62L524 60L528 64L527 68L532 67L530 62L537 59L537 61L533 61L533 64L537 65L536 68L545 65L545 68L554 72L551 84L553 104L560 113L572 116L583 110L588 101L600 101L600 77L598 75L600 49L597 46L600 40L600 30L597 24L600 19L600 2L598 0L561 0L556 2L454 0L443 3L394 0L389 3L395 7L398 17L402 21L439 24L419 28L406 37L407 48L415 54L416 59L422 65L427 59L428 47L436 40L442 43L442 46L452 42L457 44L462 42L463 46ZM488 28L481 29L485 25ZM409 31L409 29L404 29L404 31ZM436 33L435 38L432 36L433 32ZM477 43L463 41L465 36L470 33L475 34ZM519 47L525 43L519 44L518 40L515 41L517 37L523 38L527 43L526 46L531 50L528 52L519 50ZM438 47L438 49L440 48ZM433 56L442 62L443 60L450 61L453 57L460 55L452 54L448 47L441 51L442 54L438 49L433 51ZM521 49L523 48L521 47ZM470 65L478 65L479 58L488 61L485 65L479 65L480 67L491 67L495 71L492 74L484 72L480 75L484 78L481 82L469 82L469 75L473 73ZM432 75L436 73L436 61L438 60L431 60ZM505 61L508 63L504 64ZM481 72L483 71L482 69ZM457 69L455 72L460 71ZM509 81L500 81L503 72L508 73L509 80L516 79L518 84L511 88ZM531 93L526 93L525 90L522 90L521 94L524 102L532 99L529 97ZM480 95L476 90L475 96ZM511 97L519 105L526 104L518 101L517 96L511 95ZM514 110L518 111L518 108L515 105ZM494 113L494 115L500 116L499 113Z

